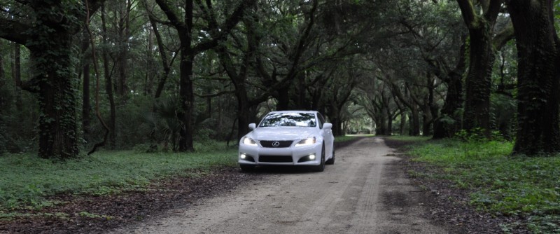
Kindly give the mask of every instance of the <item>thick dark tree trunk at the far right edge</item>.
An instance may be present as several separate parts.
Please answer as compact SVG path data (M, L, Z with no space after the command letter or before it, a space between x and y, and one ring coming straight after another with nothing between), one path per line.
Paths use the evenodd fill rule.
M518 55L518 128L514 153L560 151L560 42L554 1L509 1Z

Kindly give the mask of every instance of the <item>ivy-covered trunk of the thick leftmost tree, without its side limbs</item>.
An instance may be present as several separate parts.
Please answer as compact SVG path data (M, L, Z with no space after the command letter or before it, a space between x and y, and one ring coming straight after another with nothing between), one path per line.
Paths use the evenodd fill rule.
M78 155L78 135L72 39L83 21L71 17L81 18L83 12L67 13L66 6L50 1L34 1L33 7L39 20L35 22L27 48L34 62L33 82L29 90L38 92L41 113L38 156L73 158ZM57 14L62 12L66 14ZM63 19L54 17L55 14Z

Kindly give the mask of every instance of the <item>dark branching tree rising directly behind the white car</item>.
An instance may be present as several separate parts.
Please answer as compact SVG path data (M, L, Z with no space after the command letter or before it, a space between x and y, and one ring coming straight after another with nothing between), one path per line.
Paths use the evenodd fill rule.
M251 17L244 20L245 44L236 45L238 48L245 48L241 50L243 55L238 62L239 65L235 64L235 58L230 55L231 51L226 50L224 46L218 48L223 67L235 86L238 104L237 139L241 139L250 131L248 124L251 123L251 116L254 116L251 114L251 109L255 109L261 102L265 102L272 96L279 101L277 109L286 109L288 106L289 85L302 71L301 61L304 52L309 48L309 41L311 41L309 37L315 24L318 1L309 3L307 11L302 10L301 6L294 7L292 4L293 1L270 1L269 5L260 4L259 8L253 8L255 11L252 12ZM293 19L293 15L290 15L297 11L295 8L304 11L300 24L297 23L298 20ZM259 19L258 15L262 14L260 12L278 13L274 12L274 9L281 9L280 14L276 16L278 21L272 20L272 17L267 20ZM286 16L293 22L283 25L282 23L290 21ZM265 34L264 32L269 29L272 30ZM293 33L289 34L289 39L283 38L287 35L277 34L286 31ZM235 38L235 41L242 40ZM270 50L276 53L271 55ZM256 82L260 84L258 92L249 92L251 81L249 81L248 75L251 68L260 78Z

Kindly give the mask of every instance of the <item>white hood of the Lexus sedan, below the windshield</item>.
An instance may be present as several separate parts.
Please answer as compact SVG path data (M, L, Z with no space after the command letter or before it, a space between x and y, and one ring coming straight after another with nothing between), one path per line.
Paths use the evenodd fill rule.
M253 132L248 134L251 137L260 141L293 141L296 139L304 139L307 137L314 137L318 135L316 128L309 127L265 127L255 128Z

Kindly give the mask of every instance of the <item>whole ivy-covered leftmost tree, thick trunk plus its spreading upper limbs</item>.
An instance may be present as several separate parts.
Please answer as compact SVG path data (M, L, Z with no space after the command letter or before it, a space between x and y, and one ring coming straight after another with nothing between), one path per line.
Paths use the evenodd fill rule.
M0 17L0 37L25 45L34 62L33 77L23 86L38 93L41 158L78 155L72 40L102 1L15 1L10 9L27 14Z

